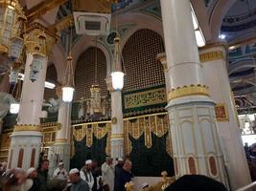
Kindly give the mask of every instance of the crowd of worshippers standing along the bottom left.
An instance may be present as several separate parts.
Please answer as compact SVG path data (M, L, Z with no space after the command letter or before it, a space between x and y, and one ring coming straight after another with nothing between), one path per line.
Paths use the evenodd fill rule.
M98 167L96 160L87 159L81 169L65 170L60 161L53 177L49 176L49 160L40 161L38 169L7 170L7 163L0 168L0 191L125 191L125 184L132 178L131 161L107 157Z

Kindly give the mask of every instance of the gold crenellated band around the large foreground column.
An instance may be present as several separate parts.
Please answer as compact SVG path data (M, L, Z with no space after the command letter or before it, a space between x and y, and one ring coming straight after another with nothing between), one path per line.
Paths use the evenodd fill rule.
M190 85L183 88L177 87L169 92L169 100L183 96L209 96L208 87L205 85Z

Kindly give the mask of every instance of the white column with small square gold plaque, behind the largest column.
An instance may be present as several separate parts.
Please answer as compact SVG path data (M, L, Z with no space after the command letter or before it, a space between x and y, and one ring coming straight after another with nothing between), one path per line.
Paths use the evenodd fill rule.
M200 61L210 96L217 103L218 134L223 145L230 185L232 190L236 190L251 180L226 70L225 45L201 49Z

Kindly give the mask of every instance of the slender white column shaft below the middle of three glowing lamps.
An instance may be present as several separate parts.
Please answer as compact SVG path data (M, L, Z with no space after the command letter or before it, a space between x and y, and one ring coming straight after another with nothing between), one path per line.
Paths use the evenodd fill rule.
M70 163L71 108L72 103L67 102L61 102L58 108L58 123L61 128L57 132L54 145L54 155L57 155L58 162L64 162L66 170L69 170Z

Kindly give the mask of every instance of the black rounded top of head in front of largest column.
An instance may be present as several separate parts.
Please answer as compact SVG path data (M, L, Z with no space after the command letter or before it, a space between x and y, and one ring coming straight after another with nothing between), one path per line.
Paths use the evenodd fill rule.
M203 175L184 175L170 184L165 191L227 191L225 186L217 180Z

